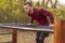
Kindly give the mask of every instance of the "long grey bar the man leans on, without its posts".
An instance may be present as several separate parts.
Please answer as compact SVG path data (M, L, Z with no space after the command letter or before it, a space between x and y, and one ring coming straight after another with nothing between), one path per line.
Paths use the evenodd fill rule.
M20 30L32 30L32 31L49 31L49 32L54 32L54 27L53 26L28 26L28 25L18 25L18 24L3 24L0 25L0 27L4 28L14 28L14 29L20 29Z

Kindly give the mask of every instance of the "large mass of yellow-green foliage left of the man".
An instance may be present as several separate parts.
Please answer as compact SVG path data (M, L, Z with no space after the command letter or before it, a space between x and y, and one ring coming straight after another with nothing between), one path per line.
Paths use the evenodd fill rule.
M27 23L28 17L23 10L24 0L0 0L0 23Z

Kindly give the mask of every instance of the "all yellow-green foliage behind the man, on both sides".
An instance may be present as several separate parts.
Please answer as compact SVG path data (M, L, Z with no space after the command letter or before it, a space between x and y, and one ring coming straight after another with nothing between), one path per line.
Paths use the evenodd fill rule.
M0 0L0 23L11 23L13 19L18 23L28 23L29 18L23 10L23 3L26 0ZM39 3L35 8L43 8ZM47 9L54 14L56 19L65 19L65 8Z

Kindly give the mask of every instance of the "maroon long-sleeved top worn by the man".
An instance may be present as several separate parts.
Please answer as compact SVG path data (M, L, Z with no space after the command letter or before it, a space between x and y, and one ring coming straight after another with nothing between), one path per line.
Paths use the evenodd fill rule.
M31 24L34 23L34 19L37 20L38 25L43 25L43 26L48 26L49 19L47 18L47 16L49 16L51 23L53 24L54 17L53 14L51 12L48 12L44 9L34 9L34 13L29 14L30 18L31 18Z

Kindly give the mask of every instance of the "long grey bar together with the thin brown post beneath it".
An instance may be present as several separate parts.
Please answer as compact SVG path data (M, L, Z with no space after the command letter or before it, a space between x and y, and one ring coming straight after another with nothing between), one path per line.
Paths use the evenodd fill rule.
M31 26L31 25L25 25L25 24L0 24L1 28L8 28L13 30L13 42L17 43L17 30L30 30L30 31L48 31L53 32L53 26Z

